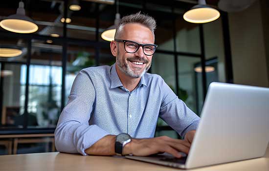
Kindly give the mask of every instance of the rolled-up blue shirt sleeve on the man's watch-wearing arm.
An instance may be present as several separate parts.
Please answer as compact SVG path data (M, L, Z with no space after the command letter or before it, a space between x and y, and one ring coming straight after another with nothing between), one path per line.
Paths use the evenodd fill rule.
M87 155L86 149L109 134L97 125L89 125L95 99L90 75L82 70L74 80L54 133L58 151Z

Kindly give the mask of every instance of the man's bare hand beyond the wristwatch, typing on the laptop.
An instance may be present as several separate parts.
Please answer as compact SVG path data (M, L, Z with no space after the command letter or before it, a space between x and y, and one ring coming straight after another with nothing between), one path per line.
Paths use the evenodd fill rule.
M147 156L160 152L168 152L173 156L180 158L182 155L179 151L188 153L190 149L188 141L173 139L167 136L147 139L132 139L123 148L123 154L133 154L136 156Z

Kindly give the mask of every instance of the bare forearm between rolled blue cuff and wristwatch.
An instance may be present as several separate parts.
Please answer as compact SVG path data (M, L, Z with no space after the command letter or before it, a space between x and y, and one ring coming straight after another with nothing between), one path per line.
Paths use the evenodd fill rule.
M86 149L85 152L89 155L116 155L115 140L115 135L107 135Z

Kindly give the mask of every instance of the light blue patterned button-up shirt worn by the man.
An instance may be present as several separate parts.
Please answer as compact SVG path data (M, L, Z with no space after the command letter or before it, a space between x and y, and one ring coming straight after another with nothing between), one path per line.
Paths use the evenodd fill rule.
M200 121L160 76L145 73L130 92L115 64L81 70L68 98L55 129L55 146L62 152L87 155L86 149L109 134L154 137L158 116L180 136Z

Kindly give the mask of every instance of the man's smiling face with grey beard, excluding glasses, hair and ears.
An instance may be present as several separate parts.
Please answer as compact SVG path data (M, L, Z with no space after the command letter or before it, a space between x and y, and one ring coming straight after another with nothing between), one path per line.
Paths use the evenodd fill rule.
M154 44L154 36L151 30L134 23L124 25L122 34L118 39L140 44ZM141 46L135 53L128 53L125 51L124 43L119 42L117 52L116 64L118 68L132 78L142 77L151 66L152 55L145 55Z

